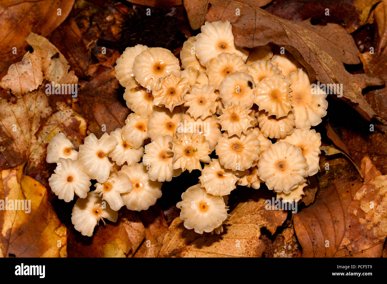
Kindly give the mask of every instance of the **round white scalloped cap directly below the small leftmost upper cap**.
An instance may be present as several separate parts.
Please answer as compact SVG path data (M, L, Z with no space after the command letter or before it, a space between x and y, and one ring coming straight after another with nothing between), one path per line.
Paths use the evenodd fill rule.
M83 172L80 162L69 158L59 158L48 184L58 198L66 202L74 199L74 192L80 198L85 198L91 186L90 177Z

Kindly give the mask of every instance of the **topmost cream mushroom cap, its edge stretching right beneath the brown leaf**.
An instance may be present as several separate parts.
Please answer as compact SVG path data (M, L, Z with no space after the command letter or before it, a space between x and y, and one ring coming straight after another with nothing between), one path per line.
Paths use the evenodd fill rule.
M207 67L209 61L221 53L235 53L246 61L248 51L238 48L234 44L234 35L231 24L225 22L205 22L200 28L201 33L196 36L194 48L200 63Z

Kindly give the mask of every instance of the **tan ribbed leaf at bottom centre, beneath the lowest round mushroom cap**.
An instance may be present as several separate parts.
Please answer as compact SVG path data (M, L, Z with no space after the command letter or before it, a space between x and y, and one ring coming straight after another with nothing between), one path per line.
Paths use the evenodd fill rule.
M265 250L261 228L273 234L288 215L282 210L266 210L267 199L271 200L269 194L257 192L240 202L220 235L199 235L176 218L164 236L159 257L260 257Z

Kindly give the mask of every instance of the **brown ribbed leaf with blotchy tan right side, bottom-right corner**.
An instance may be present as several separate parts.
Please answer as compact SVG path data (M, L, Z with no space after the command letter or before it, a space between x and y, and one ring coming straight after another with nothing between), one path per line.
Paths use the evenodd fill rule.
M363 183L337 180L294 215L303 257L381 256L387 236L387 176L367 156L361 170Z

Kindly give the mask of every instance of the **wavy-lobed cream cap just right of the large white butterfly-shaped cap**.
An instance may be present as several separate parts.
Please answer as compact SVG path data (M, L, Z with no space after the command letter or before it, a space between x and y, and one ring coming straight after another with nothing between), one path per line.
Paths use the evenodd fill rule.
M117 128L115 131L110 132L110 136L114 137L117 141L117 145L109 153L109 158L121 166L127 162L128 165L134 165L140 162L142 155L144 155L144 147L134 148L130 146L126 141L122 139L122 129Z

